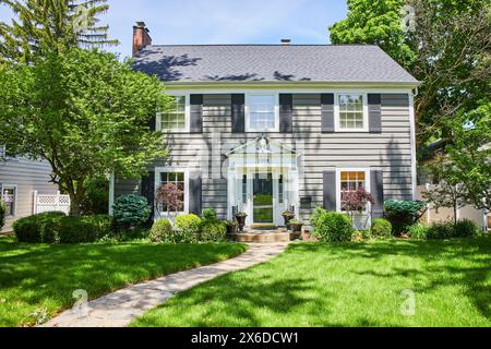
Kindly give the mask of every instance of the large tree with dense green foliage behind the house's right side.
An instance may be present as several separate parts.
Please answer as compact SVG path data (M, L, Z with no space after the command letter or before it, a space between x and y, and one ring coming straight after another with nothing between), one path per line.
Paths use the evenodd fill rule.
M330 28L331 39L380 45L421 81L419 144L445 145L453 135L446 121L489 100L490 9L489 0L348 0L348 17Z

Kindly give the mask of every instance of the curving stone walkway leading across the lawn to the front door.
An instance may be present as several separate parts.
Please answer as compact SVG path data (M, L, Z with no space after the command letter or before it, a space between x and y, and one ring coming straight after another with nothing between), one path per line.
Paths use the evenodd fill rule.
M285 251L287 245L288 243L250 244L246 253L235 258L129 286L89 301L85 308L68 310L43 327L123 327L177 292L217 276L266 262Z

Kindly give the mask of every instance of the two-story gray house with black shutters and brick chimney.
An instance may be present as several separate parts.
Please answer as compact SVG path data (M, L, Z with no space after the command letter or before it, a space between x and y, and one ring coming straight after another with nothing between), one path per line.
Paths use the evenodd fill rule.
M142 180L113 179L111 198L183 190L181 213L214 208L248 225L283 222L292 209L343 209L343 193L417 196L414 96L407 71L371 45L152 45L134 27L134 69L157 75L175 98L154 127L170 157ZM156 216L166 216L165 207Z

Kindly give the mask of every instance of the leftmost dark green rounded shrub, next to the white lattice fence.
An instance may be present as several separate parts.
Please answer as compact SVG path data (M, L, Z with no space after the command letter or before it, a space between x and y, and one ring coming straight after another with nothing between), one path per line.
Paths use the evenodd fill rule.
M64 216L61 212L48 212L17 219L13 224L15 237L19 242L57 242L56 231Z

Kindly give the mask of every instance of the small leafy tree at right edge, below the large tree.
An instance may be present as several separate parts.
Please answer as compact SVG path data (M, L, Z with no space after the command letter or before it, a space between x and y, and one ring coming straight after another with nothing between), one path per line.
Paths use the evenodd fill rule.
M447 123L453 130L447 152L454 176L477 208L491 212L491 101Z

